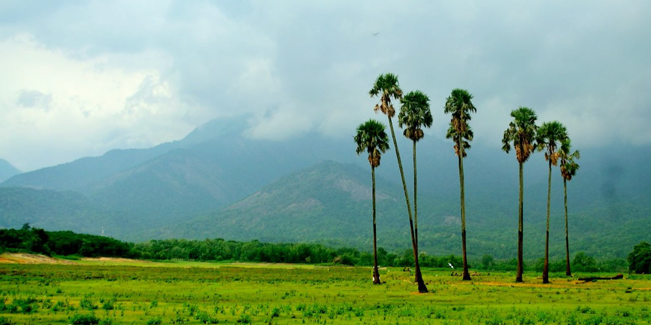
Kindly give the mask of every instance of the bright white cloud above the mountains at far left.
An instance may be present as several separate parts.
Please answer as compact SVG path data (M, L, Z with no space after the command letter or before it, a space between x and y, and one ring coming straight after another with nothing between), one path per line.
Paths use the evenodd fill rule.
M29 34L3 40L0 53L0 156L22 170L152 146L194 126L158 70L107 66L107 56L72 59Z

